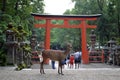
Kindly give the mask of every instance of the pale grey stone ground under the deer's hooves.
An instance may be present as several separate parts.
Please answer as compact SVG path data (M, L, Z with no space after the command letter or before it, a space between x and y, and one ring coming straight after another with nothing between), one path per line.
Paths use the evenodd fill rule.
M15 71L14 67L0 67L0 80L120 80L120 68L112 65L81 64L79 69L64 68L64 75L59 75L57 69L50 67L45 65L46 74L42 75L35 67L21 71Z

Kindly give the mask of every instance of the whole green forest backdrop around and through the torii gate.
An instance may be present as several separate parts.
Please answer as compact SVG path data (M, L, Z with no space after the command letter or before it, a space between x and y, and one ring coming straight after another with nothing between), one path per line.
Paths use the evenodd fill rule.
M97 43L104 46L111 38L120 44L120 0L72 0L75 2L73 9L67 9L64 14L90 15L102 14L97 22L88 22L97 24L95 34ZM9 22L12 22L17 28L22 28L27 32L26 41L30 40L32 30L36 31L37 41L44 41L45 29L34 28L34 18L31 13L44 13L44 0L0 0L0 42L5 42L3 31L7 29ZM45 13L47 14L47 13ZM52 23L60 24L61 21L53 20ZM78 22L72 22L77 24ZM90 31L87 29L87 43L90 44ZM80 29L53 28L51 30L51 45L62 46L65 42L71 42L73 47L81 46Z

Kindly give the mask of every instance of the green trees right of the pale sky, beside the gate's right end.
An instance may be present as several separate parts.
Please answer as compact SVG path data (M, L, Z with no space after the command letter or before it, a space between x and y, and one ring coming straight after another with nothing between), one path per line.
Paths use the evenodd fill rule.
M97 41L104 45L111 38L120 36L120 0L72 0L75 7L66 10L65 14L99 14L97 23ZM89 30L88 30L89 33Z

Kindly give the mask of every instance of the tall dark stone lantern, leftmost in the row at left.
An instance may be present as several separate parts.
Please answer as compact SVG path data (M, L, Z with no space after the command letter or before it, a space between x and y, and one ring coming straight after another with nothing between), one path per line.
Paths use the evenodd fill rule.
M15 29L13 29L13 24L9 23L7 26L7 30L5 31L6 34L6 46L7 46L7 64L15 64L15 45L17 42L15 41Z

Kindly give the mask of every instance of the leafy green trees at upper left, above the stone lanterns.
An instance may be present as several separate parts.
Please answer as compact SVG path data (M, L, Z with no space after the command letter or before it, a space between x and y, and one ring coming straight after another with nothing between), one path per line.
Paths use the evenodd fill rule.
M29 37L34 22L31 12L43 13L44 11L43 0L2 0L0 3L0 26L4 27L0 32L6 29L9 22L12 22L14 27L22 25Z

